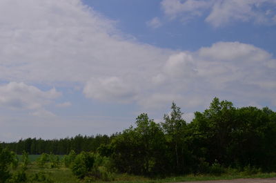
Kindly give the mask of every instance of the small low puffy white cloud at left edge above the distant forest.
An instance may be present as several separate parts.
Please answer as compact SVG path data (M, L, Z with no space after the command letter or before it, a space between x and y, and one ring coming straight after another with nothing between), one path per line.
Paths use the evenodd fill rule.
M55 88L42 91L22 82L10 82L0 86L0 105L5 108L36 110L50 104L59 96L61 93Z

